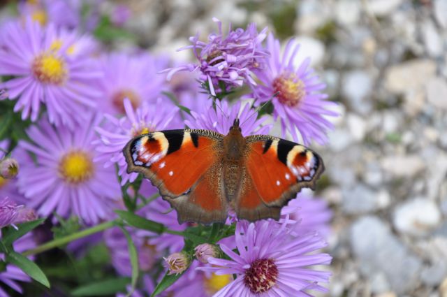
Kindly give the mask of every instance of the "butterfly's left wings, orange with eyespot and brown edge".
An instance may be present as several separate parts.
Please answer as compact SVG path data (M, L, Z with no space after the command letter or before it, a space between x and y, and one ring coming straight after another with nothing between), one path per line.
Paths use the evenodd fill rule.
M221 180L223 136L207 130L157 131L124 147L127 171L138 172L159 188L177 210L179 222L225 222Z

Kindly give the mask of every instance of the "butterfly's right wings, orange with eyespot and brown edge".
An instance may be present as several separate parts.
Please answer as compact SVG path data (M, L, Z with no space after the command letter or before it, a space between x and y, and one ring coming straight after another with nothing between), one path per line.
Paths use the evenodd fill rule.
M324 171L323 160L307 147L272 136L255 135L247 140L245 173L235 201L241 219L279 219L281 207L302 187L314 189Z

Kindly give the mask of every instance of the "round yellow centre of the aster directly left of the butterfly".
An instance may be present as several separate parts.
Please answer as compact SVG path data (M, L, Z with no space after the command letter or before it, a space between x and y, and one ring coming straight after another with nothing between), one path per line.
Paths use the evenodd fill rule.
M93 160L85 152L69 152L61 158L59 172L64 180L71 184L85 182L94 173Z

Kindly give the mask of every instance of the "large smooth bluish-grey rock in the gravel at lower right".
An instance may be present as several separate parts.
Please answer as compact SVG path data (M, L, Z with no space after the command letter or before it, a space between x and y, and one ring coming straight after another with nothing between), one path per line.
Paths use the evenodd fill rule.
M351 247L365 278L383 273L397 294L418 287L422 261L411 254L378 217L362 217L351 227Z

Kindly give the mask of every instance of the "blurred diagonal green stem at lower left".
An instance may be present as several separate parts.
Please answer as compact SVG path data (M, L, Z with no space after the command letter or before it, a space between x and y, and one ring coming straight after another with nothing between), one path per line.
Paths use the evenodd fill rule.
M28 249L26 252L24 252L24 256L29 256L31 254L39 254L41 252L45 252L48 249L52 249L54 247L59 247L61 245L66 245L68 242L72 242L73 240L77 240L79 238L83 238L85 236L89 236L94 233L98 233L101 231L104 231L105 229L112 228L119 222L117 219L114 219L113 221L105 222L99 225L96 225L94 227L91 227L89 229L82 230L80 232L64 236L61 238L57 238L54 240L51 240L49 242L44 243L43 245L39 245L38 247L35 247L34 249Z

